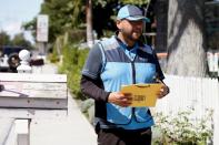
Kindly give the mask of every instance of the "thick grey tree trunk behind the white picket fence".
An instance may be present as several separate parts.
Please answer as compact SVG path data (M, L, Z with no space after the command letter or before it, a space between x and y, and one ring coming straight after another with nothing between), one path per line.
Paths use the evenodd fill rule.
M205 0L169 0L168 74L207 74L203 4Z

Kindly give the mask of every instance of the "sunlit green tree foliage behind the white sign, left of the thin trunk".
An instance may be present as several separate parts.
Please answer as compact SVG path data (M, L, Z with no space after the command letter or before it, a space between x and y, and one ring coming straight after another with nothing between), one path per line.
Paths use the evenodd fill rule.
M53 43L56 38L66 31L78 28L84 22L84 0L44 0L41 4L41 14L49 15L49 41ZM24 29L32 30L36 35L37 17L26 23Z

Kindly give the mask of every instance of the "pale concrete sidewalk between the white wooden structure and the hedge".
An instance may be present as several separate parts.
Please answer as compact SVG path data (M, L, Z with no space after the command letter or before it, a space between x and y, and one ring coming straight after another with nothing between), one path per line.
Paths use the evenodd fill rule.
M44 65L42 73L51 73L54 70L57 69L51 65ZM68 94L68 117L32 120L30 124L30 145L97 145L97 135L91 124L70 94Z

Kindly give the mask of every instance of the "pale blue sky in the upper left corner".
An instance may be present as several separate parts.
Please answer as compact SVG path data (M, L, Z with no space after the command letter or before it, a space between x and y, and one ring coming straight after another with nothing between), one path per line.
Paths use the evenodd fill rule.
M43 0L0 0L0 31L6 31L11 38L22 32L21 25L31 21L40 11ZM30 32L24 37L32 41Z

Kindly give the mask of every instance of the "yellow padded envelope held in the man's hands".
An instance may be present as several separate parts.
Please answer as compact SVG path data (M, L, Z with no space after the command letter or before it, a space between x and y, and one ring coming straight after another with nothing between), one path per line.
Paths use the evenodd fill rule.
M155 106L157 102L157 93L162 84L132 84L122 85L121 93L130 93L132 96L131 106Z

